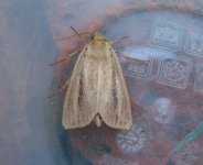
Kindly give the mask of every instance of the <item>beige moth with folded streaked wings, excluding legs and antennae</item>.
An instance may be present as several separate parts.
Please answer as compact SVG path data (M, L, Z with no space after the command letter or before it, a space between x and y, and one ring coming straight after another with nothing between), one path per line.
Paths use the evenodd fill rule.
M66 82L67 84L67 82ZM62 123L76 129L95 122L130 129L131 107L122 69L110 42L95 32L81 51L68 80Z

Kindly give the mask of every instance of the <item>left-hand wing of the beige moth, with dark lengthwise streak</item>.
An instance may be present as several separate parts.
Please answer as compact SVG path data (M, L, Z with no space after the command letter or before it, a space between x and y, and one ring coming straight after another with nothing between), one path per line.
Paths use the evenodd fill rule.
M64 109L63 109L63 127L65 129L76 129L88 125L95 117L95 108L93 107L89 99L89 90L84 87L83 76L84 76L84 52L81 53L73 75L70 79L67 87Z

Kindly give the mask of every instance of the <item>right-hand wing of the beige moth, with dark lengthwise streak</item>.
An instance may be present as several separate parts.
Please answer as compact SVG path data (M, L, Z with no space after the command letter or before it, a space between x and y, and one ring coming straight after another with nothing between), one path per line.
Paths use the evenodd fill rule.
M113 96L104 106L100 114L104 122L115 129L130 129L132 124L131 107L122 69L115 51L111 48L113 57Z

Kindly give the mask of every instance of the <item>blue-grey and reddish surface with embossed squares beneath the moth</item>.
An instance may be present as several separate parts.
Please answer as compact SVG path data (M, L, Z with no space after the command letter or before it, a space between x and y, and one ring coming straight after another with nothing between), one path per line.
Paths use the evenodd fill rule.
M203 2L201 0L8 0L0 2L0 164L201 165ZM65 131L64 94L83 46L74 32L99 31L119 58L133 125ZM138 106L136 106L138 105Z

